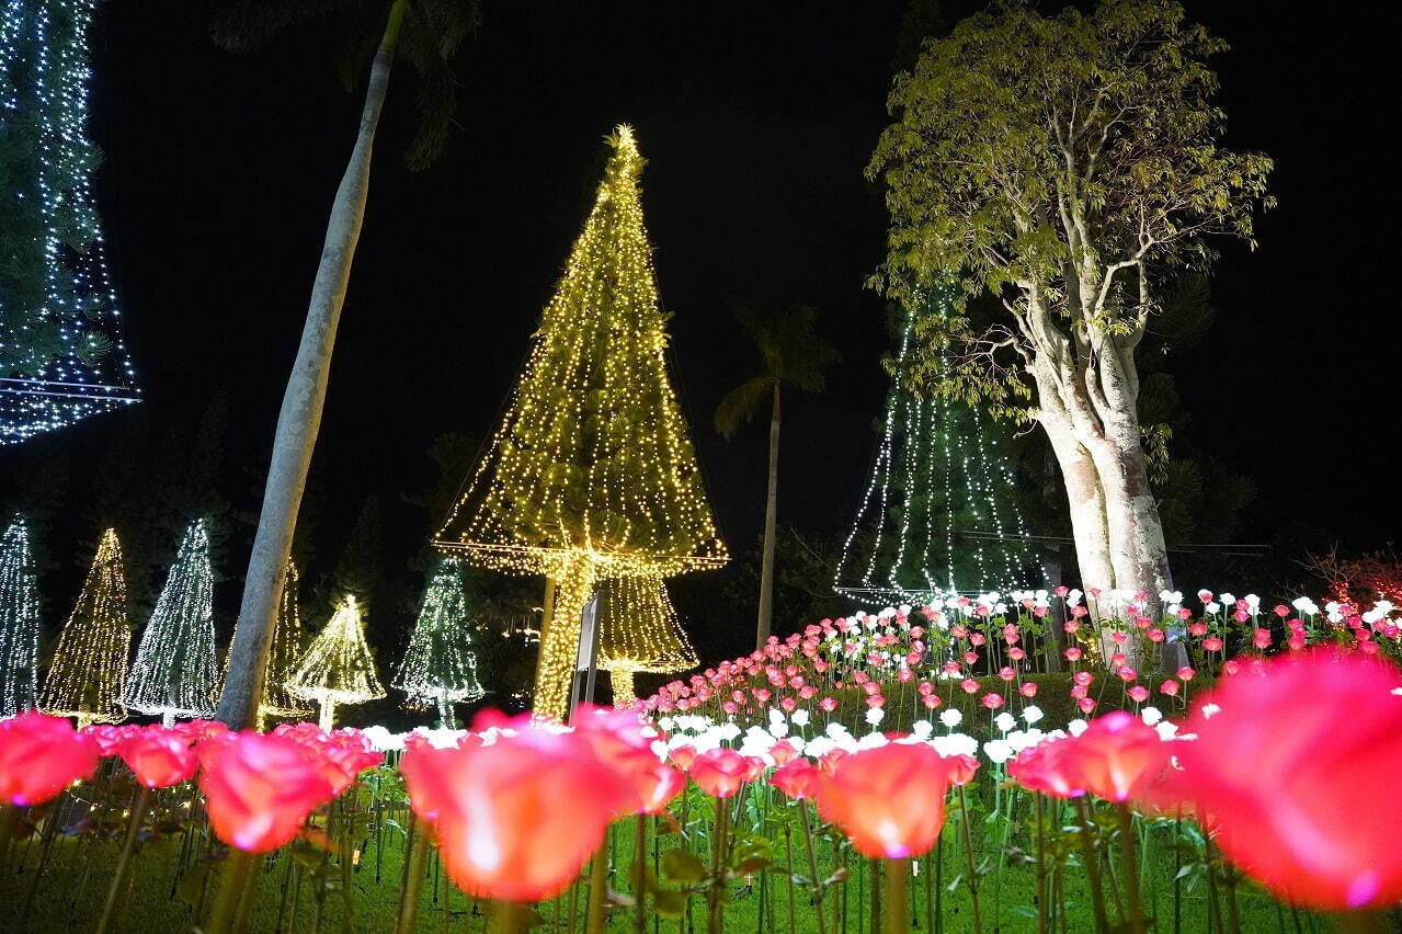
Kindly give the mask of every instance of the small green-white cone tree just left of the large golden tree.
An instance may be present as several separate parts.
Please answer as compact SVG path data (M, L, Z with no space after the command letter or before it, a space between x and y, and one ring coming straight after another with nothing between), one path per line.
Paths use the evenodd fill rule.
M484 693L477 683L471 647L463 568L444 558L423 593L423 607L394 686L409 696L411 704L436 704L443 726L454 729L453 704L477 700Z

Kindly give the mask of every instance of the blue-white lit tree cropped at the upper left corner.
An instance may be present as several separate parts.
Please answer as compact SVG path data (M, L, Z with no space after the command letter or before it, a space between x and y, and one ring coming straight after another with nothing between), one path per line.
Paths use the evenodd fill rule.
M98 0L0 11L0 445L135 402L93 196Z

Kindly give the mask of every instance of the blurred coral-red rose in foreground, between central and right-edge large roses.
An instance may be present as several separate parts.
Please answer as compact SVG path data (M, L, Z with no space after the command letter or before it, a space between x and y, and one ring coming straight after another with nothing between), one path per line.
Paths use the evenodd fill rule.
M822 773L817 809L858 853L900 860L928 853L945 823L949 767L930 746L890 743L855 752Z

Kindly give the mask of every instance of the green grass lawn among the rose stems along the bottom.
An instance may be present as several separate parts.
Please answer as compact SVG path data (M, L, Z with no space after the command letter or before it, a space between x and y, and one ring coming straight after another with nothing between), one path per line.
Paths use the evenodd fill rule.
M393 787L391 787L393 788ZM794 874L809 875L802 847L795 805L778 792L758 787L742 799L737 844L750 854L771 860L761 871L743 877L726 889L725 928L729 931L816 931L815 909L808 892L794 884ZM118 788L121 791L121 788ZM188 794L188 792L185 792ZM388 792L387 792L388 794ZM672 832L649 832L648 858L662 877L662 888L677 889L667 879L662 860L669 850L687 844L709 864L711 802L691 787L690 798L679 799ZM94 795L95 797L95 795ZM355 846L345 858L331 855L313 843L299 841L286 847L259 867L255 899L251 905L251 931L393 931L404 875L408 813L402 804L372 801L367 791L338 805L336 826L349 830ZM115 914L115 931L191 930L196 910L207 910L217 886L223 847L212 843L202 820L182 820L182 792L164 792L150 822L153 833L136 857L128 891L122 893ZM6 930L72 931L93 930L112 877L122 839L122 798L87 809L69 802L36 815L34 832L20 841L11 857L10 872L0 881L0 905L6 906ZM1035 825L1023 795L1009 797L991 783L972 797L970 837L974 841L973 864L979 875L983 930L1037 930L1033 895L1036 868L1030 861ZM1070 820L1070 812L1063 815ZM1053 850L1061 862L1060 879L1064 909L1054 930L1077 933L1094 930L1087 898L1085 872L1078 850L1070 837L1057 832L1061 820L1049 820ZM653 830L662 827L659 820ZM64 833L80 829L81 833ZM963 848L963 826L952 809L939 848L916 861L910 885L914 930L960 934L973 931L973 900L967 885L969 857ZM339 833L339 832L338 832ZM311 834L315 836L315 834ZM1211 923L1213 909L1206 865L1195 837L1179 834L1172 822L1141 825L1140 857L1147 867L1144 898L1157 919L1158 931L1225 930ZM629 892L634 826L631 819L618 822L610 834L610 886ZM792 854L792 861L791 861ZM829 934L861 934L876 926L882 892L879 868L859 858L845 844L822 834L817 846L819 875L831 877L845 868L850 877L827 889L824 910L830 919ZM42 862L42 871L39 871ZM1175 886L1175 875L1182 869ZM1102 872L1113 885L1117 864L1103 862ZM791 916L791 889L794 913ZM586 885L580 882L555 902L538 906L543 927L538 930L583 930ZM1217 886L1217 916L1223 916L1225 888ZM1258 889L1238 886L1242 931L1321 931L1326 920L1293 914ZM1112 916L1113 900L1112 900ZM418 914L419 931L484 931L488 919L481 906L456 891L444 878L436 854L430 855ZM693 895L681 919L649 914L645 927L655 934L705 930L705 899ZM618 906L611 912L607 930L632 930L632 909Z

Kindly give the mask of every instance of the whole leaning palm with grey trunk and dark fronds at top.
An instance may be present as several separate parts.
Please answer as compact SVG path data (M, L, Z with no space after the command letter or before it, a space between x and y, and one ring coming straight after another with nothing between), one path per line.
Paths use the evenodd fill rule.
M258 717L287 553L321 426L331 349L365 220L370 151L390 72L397 60L404 60L419 76L419 129L407 161L411 168L422 168L442 150L451 125L453 59L463 39L477 28L481 0L237 0L216 15L213 34L226 48L245 49L322 15L334 18L349 39L352 52L342 69L348 87L367 57L370 79L350 161L331 203L301 344L278 414L262 512L238 611L240 625L230 649L229 680L219 701L219 719L234 728L252 726Z

